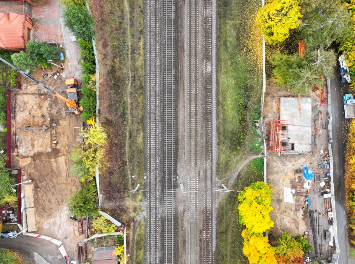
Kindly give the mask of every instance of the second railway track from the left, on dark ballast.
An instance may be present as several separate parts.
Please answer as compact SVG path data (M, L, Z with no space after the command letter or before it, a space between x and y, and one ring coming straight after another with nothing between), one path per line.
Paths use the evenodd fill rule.
M174 263L174 181L175 181L175 36L174 1L164 0L164 178L165 264Z

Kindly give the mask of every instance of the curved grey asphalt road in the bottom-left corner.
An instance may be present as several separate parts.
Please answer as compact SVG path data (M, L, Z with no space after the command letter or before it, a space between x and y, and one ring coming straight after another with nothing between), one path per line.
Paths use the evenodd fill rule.
M16 238L0 238L0 247L14 249L29 258L33 263L36 263L34 253L37 252L50 264L65 264L58 247L44 239L34 239L34 237L23 235Z

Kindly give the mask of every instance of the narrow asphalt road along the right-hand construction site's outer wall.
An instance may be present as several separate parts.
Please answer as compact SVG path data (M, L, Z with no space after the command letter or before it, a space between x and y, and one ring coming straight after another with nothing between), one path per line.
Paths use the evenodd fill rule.
M334 69L335 78L330 80L331 108L332 108L332 154L333 154L333 182L335 192L335 210L337 214L339 264L348 264L348 237L346 233L345 211L345 136L348 130L349 120L344 117L343 95L347 92L347 86L341 83L339 69Z

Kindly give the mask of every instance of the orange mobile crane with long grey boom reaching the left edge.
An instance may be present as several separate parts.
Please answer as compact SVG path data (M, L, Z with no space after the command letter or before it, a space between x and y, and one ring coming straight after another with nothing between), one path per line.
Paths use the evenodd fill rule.
M54 96L56 96L59 99L61 99L62 101L64 101L67 104L67 106L69 107L69 111L68 112L75 113L75 114L80 114L83 111L83 107L82 106L80 106L80 107L78 106L78 94L77 94L78 83L77 83L77 80L75 78L67 79L67 80L69 80L68 83L70 83L72 81L72 83L70 83L70 85L68 85L68 89L66 89L67 95L68 95L68 99L67 99L67 98L59 95L57 92L53 91L52 89L48 88L43 83L40 83L39 81L37 81L33 77L29 76L27 73L25 73L22 70L16 68L11 63L9 63L8 61L4 60L3 58L0 57L0 60L3 63L9 65L11 68L15 69L17 72L19 72L20 74L22 74L23 76L25 76L29 80L37 83L37 85L39 85L40 87L44 88L45 90L47 90L48 92L50 92ZM67 83L67 80L66 80L66 83Z

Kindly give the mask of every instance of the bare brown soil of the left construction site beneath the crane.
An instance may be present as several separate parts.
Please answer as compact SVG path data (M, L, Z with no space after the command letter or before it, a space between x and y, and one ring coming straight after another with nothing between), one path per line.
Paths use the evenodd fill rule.
M41 80L41 72L35 72L33 76ZM45 85L57 92L65 89L61 76L50 79ZM34 182L37 233L63 242L68 237L70 242L65 243L66 250L74 255L76 244L83 237L75 237L66 208L66 201L79 186L78 178L69 174L68 154L78 142L80 130L75 127L81 126L81 119L61 113L63 108L66 109L65 103L43 89L41 94L45 98L40 98L39 88L33 82L23 80L22 90L12 92L12 167L22 168L23 177ZM48 128L44 131L18 129L44 125ZM15 134L18 135L18 145ZM53 136L58 140L55 147Z

